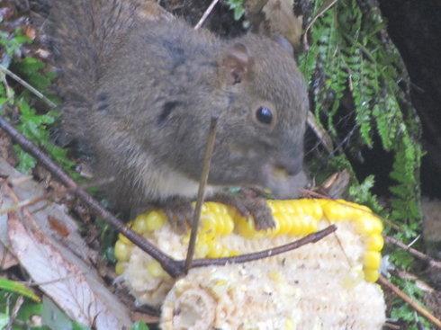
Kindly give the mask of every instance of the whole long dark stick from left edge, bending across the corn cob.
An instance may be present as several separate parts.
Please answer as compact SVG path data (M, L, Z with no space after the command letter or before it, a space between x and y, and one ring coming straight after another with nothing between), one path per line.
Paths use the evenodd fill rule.
M73 181L62 169L55 164L49 156L46 156L38 147L36 147L31 141L20 134L14 127L0 116L0 129L4 129L8 135L14 139L15 143L20 145L23 150L27 151L34 156L41 165L45 166L50 174L54 175L58 180L67 186L67 189L72 191L72 194L79 200L83 201L94 214L109 224L111 224L119 233L126 236L132 243L138 245L141 250L146 252L152 258L154 258L161 267L171 276L178 277L184 273L184 260L175 260L163 253L157 248L157 246L148 242L143 236L135 233L129 227L125 227L124 223L112 215L111 212L105 210L101 204L94 200L94 198L85 192L84 189L79 187L75 181ZM287 251L291 251L302 245L308 243L315 243L322 239L324 236L328 236L330 233L337 230L337 227L329 226L317 233L305 236L302 239L290 243L288 245L277 246L266 251L257 252L254 254L242 254L237 257L219 258L219 259L197 259L192 263L193 267L203 267L209 265L221 265L226 263L247 263L258 259L263 259L275 254L282 254Z

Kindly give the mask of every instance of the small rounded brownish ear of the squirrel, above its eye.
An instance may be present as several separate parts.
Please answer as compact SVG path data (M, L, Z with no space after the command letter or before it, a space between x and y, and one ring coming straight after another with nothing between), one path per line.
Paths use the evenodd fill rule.
M245 79L252 65L253 58L248 54L247 47L242 43L235 43L221 58L221 75L229 85L236 85Z

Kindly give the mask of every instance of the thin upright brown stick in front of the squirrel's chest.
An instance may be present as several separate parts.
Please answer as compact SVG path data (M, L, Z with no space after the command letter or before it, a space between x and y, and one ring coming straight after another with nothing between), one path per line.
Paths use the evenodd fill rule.
M185 273L188 272L192 265L194 246L196 245L197 229L199 227L199 220L201 219L201 209L203 197L205 194L205 186L208 181L208 174L210 174L211 156L214 149L214 141L216 140L216 124L218 119L211 117L210 129L208 131L207 146L205 148L205 155L203 156L202 174L199 181L199 190L197 192L196 206L193 212L192 232L190 233L190 242L188 244L187 257L185 259Z

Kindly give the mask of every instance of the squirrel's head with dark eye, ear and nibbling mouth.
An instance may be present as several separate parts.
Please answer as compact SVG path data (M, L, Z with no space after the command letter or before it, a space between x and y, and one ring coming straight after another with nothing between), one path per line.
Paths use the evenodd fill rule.
M182 134L175 127L173 143L182 147L175 147L173 161L186 175L199 179L215 116L210 184L260 185L279 196L298 189L292 178L302 171L308 94L293 52L285 46L256 35L222 45L211 71L199 77L198 92L187 101L193 106L180 118Z

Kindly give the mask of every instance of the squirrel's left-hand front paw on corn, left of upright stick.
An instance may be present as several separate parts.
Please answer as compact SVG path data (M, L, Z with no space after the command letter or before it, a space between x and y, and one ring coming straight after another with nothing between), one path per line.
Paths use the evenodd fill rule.
M179 233L184 233L191 227L193 221L192 203L184 198L173 197L161 205L172 227Z

